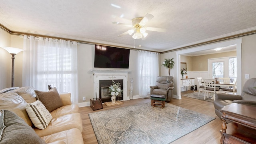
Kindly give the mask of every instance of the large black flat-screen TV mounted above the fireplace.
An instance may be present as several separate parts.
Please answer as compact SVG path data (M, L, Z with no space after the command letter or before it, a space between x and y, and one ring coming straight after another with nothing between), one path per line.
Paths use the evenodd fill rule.
M130 50L95 45L94 68L129 68Z

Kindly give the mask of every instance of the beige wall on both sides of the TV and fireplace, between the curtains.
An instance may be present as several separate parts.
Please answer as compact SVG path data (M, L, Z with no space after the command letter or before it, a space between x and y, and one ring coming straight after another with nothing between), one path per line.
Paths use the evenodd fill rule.
M94 69L94 45L80 44L78 45L78 102L90 102L94 98L94 76L91 69ZM103 69L103 68L102 68ZM133 95L139 94L138 90L138 52L130 50L127 84L127 96L130 90L130 78L133 78ZM83 97L86 101L83 101Z

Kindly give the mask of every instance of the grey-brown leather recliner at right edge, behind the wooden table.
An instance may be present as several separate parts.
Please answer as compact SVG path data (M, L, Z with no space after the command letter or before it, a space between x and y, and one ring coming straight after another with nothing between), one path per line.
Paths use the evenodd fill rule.
M221 117L222 113L219 110L224 106L232 103L256 105L255 87L256 78L251 78L245 82L241 96L236 94L216 93L216 98L215 101L213 102L215 114L218 117Z

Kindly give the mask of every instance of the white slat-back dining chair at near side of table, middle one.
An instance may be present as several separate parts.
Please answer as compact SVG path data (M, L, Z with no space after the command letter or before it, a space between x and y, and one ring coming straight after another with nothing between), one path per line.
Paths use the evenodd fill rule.
M209 98L209 92L216 93L220 92L220 88L216 88L216 82L214 78L204 78L204 100L206 96L206 92L208 94L207 98ZM215 94L212 95L213 100L215 100Z

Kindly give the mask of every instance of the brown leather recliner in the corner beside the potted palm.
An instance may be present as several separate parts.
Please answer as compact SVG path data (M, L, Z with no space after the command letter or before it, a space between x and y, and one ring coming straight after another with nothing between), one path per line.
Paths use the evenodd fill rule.
M164 95L166 96L166 102L170 102L173 95L173 85L173 76L158 76L156 78L156 85L150 86L150 95Z

